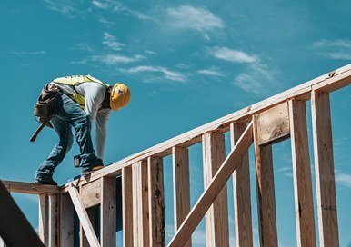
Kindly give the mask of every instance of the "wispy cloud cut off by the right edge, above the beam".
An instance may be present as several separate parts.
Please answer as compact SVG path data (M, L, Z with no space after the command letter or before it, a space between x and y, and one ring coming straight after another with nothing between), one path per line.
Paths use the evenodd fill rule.
M313 44L316 54L333 60L351 60L351 40L319 40Z

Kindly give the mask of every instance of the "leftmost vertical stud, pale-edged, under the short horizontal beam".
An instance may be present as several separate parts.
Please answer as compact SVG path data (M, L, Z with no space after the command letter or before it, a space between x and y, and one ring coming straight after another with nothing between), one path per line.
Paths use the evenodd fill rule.
M49 244L49 196L46 193L39 195L39 237L47 246Z

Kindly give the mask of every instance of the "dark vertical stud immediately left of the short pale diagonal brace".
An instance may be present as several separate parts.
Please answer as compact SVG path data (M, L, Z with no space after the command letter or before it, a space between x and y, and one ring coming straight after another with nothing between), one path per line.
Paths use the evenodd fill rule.
M59 246L75 244L75 208L68 193L60 196Z

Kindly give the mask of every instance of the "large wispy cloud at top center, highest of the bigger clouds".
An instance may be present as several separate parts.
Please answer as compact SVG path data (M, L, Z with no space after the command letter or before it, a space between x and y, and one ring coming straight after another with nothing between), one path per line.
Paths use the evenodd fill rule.
M166 9L167 23L179 29L196 30L208 39L208 31L221 29L223 21L205 8L182 5Z

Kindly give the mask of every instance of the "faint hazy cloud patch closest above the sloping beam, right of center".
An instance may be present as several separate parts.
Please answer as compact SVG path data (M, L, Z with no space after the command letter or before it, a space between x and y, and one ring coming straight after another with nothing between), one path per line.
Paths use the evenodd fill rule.
M250 64L245 73L238 74L233 82L249 94L267 96L276 90L276 70L266 64Z

